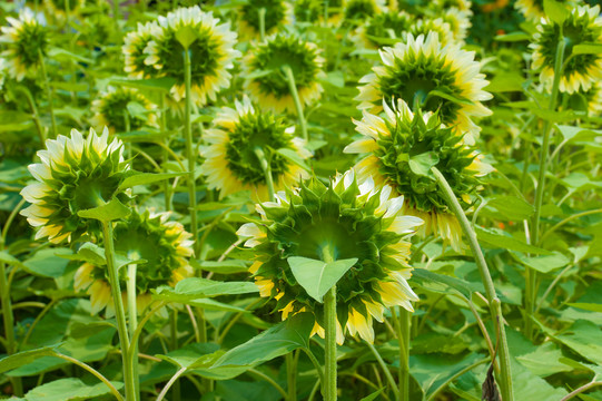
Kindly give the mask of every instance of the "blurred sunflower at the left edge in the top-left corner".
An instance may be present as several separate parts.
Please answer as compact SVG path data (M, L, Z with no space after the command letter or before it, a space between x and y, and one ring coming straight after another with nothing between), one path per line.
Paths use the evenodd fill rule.
M7 62L8 74L18 81L26 76L37 77L48 48L48 29L43 17L26 8L19 13L19 19L7 17L7 21L10 26L0 28L0 43L6 47L0 55Z

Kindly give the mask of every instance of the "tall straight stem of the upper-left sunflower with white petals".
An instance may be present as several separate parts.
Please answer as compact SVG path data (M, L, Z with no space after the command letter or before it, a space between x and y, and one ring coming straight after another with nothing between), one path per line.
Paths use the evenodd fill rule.
M190 202L190 234L193 234L193 239L195 241L194 250L195 257L200 255L200 250L198 248L198 222L197 222L197 185L195 180L195 167L196 167L196 156L193 154L193 124L190 121L190 113L193 108L193 98L190 89L190 79L191 79L191 69L190 69L190 50L186 49L184 51L184 85L186 88L186 99L185 99L185 125L184 125L184 135L186 140L186 158L188 159L188 197Z

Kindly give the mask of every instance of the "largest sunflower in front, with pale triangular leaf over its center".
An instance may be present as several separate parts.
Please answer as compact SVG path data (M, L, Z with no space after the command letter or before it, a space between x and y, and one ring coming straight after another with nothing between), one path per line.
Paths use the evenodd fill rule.
M261 223L243 225L238 235L250 237L245 243L256 258L250 273L260 295L277 300L283 320L312 312L313 334L324 336L322 306L297 283L287 260L324 261L325 248L336 260L357 258L336 284L339 344L344 327L374 342L373 319L383 322L385 307L413 311L411 302L418 297L407 284L412 272L407 238L422 221L403 215L403 196L391 194L391 187L376 189L369 180L358 185L352 169L328 186L316 178L302 180L299 188L279 194L278 202L257 205Z

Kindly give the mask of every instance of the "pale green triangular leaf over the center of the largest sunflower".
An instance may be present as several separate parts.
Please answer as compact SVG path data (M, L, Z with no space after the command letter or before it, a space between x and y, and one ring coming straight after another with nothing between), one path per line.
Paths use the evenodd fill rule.
M293 275L295 275L299 285L307 291L307 294L317 302L323 302L324 294L357 263L357 258L326 263L307 257L292 256L287 262Z

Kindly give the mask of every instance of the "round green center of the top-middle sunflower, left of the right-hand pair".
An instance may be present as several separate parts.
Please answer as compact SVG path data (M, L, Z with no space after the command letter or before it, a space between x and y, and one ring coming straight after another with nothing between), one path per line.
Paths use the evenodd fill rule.
M258 49L251 63L254 70L270 71L256 78L261 91L272 94L277 98L290 96L287 79L282 71L288 65L295 77L297 89L310 86L319 71L316 63L315 50L308 49L297 38L276 37Z

